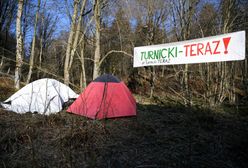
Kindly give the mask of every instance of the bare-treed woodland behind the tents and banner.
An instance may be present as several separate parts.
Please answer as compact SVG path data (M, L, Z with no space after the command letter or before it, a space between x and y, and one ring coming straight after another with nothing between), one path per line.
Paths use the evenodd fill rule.
M110 73L161 102L247 104L247 57L132 67L137 46L247 29L247 0L1 0L0 73L16 89L50 77L79 92Z

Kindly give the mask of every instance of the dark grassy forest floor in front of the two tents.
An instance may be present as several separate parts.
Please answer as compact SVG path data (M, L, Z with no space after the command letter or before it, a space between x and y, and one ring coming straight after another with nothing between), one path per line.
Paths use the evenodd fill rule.
M137 117L101 121L0 109L0 167L246 168L247 109L138 100Z

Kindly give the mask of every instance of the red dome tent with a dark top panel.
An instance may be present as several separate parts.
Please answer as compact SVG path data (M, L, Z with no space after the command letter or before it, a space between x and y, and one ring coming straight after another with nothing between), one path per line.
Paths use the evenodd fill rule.
M136 115L136 101L116 77L106 74L91 82L67 112L91 119Z

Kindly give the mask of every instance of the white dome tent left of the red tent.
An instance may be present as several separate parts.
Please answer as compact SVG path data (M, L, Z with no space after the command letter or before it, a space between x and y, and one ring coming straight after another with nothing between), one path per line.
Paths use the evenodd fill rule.
M26 85L1 105L17 113L51 114L61 111L65 102L77 97L78 95L63 83L44 78Z

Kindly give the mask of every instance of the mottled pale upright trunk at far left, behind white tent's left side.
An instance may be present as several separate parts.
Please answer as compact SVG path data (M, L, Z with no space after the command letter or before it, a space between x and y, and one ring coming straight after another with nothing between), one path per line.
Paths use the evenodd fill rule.
M15 68L15 88L20 88L21 67L22 67L22 49L23 49L23 37L21 30L21 18L22 18L23 0L18 1L18 11L16 18L16 68Z

